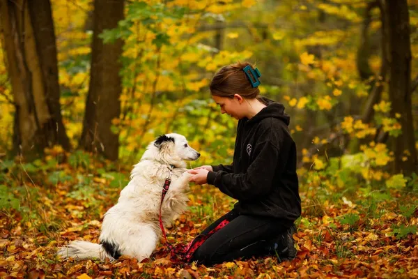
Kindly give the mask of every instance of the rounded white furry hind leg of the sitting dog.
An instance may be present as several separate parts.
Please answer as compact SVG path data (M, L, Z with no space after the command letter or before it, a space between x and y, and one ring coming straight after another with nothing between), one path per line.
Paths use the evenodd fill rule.
M155 229L147 224L137 225L130 229L125 236L121 252L123 255L134 257L141 262L150 257L157 247L158 235Z

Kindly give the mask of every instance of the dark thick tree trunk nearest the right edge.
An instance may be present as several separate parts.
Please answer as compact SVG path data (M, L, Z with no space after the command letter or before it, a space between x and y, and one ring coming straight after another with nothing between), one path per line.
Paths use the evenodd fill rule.
M406 175L417 171L411 105L411 47L407 0L387 0L389 27L389 98L392 117L400 114L402 135L394 139L394 171ZM408 160L403 160L408 158Z

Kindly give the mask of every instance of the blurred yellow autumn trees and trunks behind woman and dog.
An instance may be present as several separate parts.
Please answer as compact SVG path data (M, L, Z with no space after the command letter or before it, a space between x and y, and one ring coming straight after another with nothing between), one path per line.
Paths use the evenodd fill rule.
M355 160L362 169L350 172L366 181L417 172L416 0L37 5L0 6L4 158L41 158L58 144L132 163L157 135L177 132L199 163L231 160L236 122L208 83L248 60L262 94L291 115L302 174Z

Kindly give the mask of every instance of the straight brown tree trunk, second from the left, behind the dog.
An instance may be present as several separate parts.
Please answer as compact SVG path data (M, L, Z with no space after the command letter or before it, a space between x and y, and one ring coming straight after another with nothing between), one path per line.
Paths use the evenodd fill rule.
M111 132L112 119L121 113L121 70L123 41L104 44L98 36L104 29L114 29L123 20L123 0L95 0L91 76L86 99L83 132L79 145L86 151L118 159L119 135Z

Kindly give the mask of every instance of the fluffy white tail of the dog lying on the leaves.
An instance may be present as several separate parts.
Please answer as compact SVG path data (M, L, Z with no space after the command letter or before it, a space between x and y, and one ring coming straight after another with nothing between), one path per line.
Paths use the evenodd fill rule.
M57 254L63 259L68 259L69 257L77 259L97 257L101 261L104 261L105 258L109 258L111 261L114 260L113 257L107 254L102 244L79 240L72 241L68 246L61 248Z

